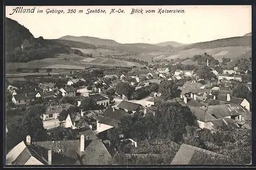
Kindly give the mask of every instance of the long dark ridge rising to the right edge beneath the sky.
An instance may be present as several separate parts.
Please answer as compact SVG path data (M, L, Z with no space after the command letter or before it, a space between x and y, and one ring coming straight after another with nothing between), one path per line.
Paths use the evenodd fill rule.
M188 45L184 47L184 50L188 50L191 48L217 48L217 47L225 47L225 46L251 46L251 37L232 37L232 38L224 38L218 39L214 41L207 42L199 42L195 44Z

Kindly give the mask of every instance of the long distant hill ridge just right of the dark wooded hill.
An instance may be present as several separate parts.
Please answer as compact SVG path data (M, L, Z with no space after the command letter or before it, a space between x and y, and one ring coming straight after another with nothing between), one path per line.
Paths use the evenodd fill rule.
M101 39L101 38L88 37L88 36L76 37L76 36L66 35L58 39L84 42L84 43L94 44L94 45L119 45L120 44L114 40Z

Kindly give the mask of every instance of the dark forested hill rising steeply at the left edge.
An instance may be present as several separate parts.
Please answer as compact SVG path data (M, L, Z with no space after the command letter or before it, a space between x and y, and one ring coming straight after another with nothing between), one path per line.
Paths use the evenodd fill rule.
M17 21L6 17L6 61L28 62L54 57L55 54L77 54L83 56L79 50L73 50L67 45L43 37L34 38L30 31Z

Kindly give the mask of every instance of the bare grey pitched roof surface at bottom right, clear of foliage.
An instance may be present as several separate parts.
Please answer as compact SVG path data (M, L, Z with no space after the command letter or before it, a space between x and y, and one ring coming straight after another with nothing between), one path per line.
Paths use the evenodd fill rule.
M216 155L219 155L221 156L220 154L217 154L215 152L211 152L211 151L208 151L208 150L204 150L204 149L201 149L201 148L197 148L197 147L193 147L191 145L188 145L188 144L185 144L183 143L179 149L179 151L176 153L172 163L170 164L194 164L194 162L191 162L191 160L195 160L197 158L195 158L195 153L205 153L209 156L216 156ZM205 158L205 159L208 159L209 157ZM206 161L211 161L210 159L209 160L206 160ZM209 163L210 164L210 163Z

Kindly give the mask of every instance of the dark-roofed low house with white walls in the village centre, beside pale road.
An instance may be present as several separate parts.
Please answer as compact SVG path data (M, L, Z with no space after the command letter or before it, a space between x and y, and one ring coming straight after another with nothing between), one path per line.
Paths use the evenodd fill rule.
M117 105L117 109L123 109L124 111L134 114L134 113L145 113L146 108L144 108L142 105L133 103L133 102L128 102L128 101L122 101Z

